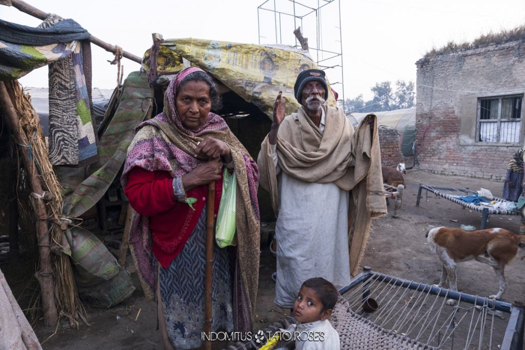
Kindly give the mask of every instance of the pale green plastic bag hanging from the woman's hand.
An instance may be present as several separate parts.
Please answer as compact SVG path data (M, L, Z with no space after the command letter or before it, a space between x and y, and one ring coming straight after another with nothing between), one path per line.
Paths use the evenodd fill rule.
M223 194L220 197L217 223L215 225L215 241L220 248L235 246L235 196L237 193L237 177L224 168Z

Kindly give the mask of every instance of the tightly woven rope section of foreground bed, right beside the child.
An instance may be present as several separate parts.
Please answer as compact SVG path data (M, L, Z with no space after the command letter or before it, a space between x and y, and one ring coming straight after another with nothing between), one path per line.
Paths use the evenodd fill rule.
M435 349L419 343L402 334L387 331L350 309L342 298L335 305L330 317L335 330L339 333L341 350L343 349Z

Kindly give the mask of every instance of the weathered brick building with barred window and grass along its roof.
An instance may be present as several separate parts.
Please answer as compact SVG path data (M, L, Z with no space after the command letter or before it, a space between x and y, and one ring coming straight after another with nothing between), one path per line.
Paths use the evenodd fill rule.
M525 37L416 62L416 164L505 179L524 142Z

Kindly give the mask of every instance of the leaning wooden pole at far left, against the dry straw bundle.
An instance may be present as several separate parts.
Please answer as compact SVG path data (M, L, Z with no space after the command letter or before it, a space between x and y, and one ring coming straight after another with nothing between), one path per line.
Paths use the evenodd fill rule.
M3 81L0 81L0 106L2 108L3 119L9 130L13 132L16 143L19 145L28 145L26 135L20 131L18 123L18 114L15 106L9 97L7 87ZM29 178L29 184L34 194L43 194L42 186L38 178L36 166L33 160L29 158L28 149L20 146L19 151L22 154L24 168ZM42 305L44 309L44 323L48 326L55 327L58 322L57 307L55 304L55 287L53 283L53 269L51 268L51 247L49 244L49 235L47 227L47 214L44 201L40 198L31 196L33 208L36 213L36 232L38 238L38 249L40 253L40 270L36 272L36 277L40 283L42 293Z

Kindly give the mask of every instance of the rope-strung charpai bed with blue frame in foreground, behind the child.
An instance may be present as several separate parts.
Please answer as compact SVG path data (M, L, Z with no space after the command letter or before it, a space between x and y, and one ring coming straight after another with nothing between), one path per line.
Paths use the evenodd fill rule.
M339 333L341 349L523 349L525 312L519 305L408 281L366 267L340 293L330 322ZM448 299L459 302L450 306ZM292 322L288 316L262 334L271 336ZM261 345L252 340L227 349L255 350Z

